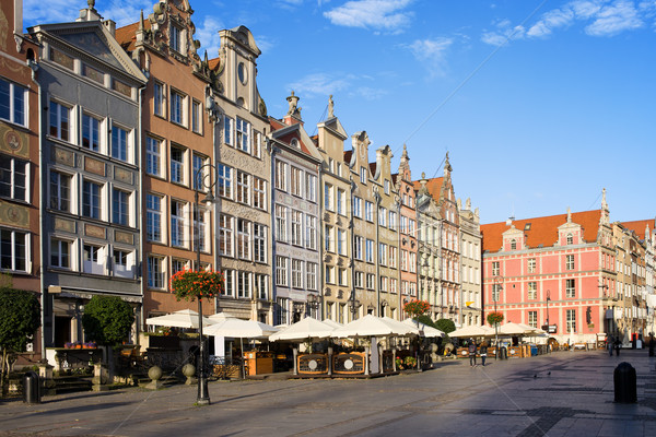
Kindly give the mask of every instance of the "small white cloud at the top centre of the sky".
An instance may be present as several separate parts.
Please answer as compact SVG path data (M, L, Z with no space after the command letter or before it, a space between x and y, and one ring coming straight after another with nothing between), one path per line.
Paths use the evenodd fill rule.
M401 32L413 13L403 11L412 0L352 0L324 12L338 26Z

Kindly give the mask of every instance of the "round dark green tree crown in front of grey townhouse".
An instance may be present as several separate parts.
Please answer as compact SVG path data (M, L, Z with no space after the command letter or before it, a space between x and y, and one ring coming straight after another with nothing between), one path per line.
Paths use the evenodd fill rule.
M118 296L93 296L84 307L82 326L89 340L114 346L130 335L134 312Z

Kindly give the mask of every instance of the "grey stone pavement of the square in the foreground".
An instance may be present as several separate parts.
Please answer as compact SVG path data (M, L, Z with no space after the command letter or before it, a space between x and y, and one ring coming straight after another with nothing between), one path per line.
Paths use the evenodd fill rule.
M637 403L613 403L613 369L637 375ZM368 380L211 382L0 401L0 435L656 436L656 358L647 351L558 352L485 367L446 361Z

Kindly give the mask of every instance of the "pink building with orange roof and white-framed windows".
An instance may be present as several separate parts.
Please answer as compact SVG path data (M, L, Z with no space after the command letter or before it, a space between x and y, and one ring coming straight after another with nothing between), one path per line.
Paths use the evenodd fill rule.
M549 322L561 343L610 331L616 272L606 194L600 210L491 223L481 234L485 318L496 304L504 322Z

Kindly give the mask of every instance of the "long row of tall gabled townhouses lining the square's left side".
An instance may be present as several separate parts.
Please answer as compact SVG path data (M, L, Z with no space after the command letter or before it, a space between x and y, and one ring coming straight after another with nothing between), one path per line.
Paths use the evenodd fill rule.
M251 33L221 31L201 58L188 1L120 28L91 1L27 34L20 0L1 11L0 259L40 296L34 351L84 340L94 295L133 306L137 339L189 306L168 284L184 269L223 272L207 314L401 319L422 298L435 319L480 323L479 215L456 200L448 156L419 181L405 146L396 173L387 145L370 162L332 97L314 137L293 92L270 117Z

